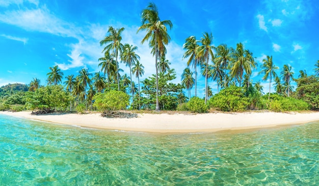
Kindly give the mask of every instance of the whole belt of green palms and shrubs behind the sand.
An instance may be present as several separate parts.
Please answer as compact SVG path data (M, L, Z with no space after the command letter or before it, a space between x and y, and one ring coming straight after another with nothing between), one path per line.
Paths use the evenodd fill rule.
M258 67L253 53L242 43L230 47L213 45L211 33L204 32L198 40L195 36L183 44L188 67L183 69L180 83L172 83L176 77L171 62L166 59L166 45L170 41L170 20L159 19L155 4L150 3L141 14L142 24L137 32L145 32L142 44L148 42L154 56L155 72L141 80L144 66L138 48L122 43L124 28L109 27L107 36L101 38L104 46L99 72L90 73L83 68L78 74L64 77L58 66L49 67L44 84L38 78L29 85L9 84L0 88L0 110L32 110L40 113L52 111L115 110L166 110L197 113L217 110L243 112L270 110L275 112L319 109L319 60L314 64L314 75L306 71L295 74L289 64L279 68L272 56L263 59ZM129 67L129 73L119 68L119 63ZM268 81L267 93L261 82L253 82L252 71L263 75L260 81ZM198 90L198 75L205 77L205 89ZM138 82L131 81L136 76ZM298 77L297 77L298 76ZM141 80L141 81L140 81ZM209 83L217 83L217 94L212 95ZM292 82L296 82L295 88ZM275 92L271 92L271 87ZM191 95L191 89L195 95ZM204 97L198 92L204 91Z

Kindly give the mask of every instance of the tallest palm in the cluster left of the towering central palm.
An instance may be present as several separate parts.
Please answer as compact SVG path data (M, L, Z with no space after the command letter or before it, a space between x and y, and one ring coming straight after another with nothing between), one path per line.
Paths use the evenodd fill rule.
M118 85L118 91L120 91L120 83L119 83L119 75L118 75L118 62L117 57L119 55L119 52L123 49L123 44L121 43L122 40L122 32L124 31L124 28L120 29L114 29L112 26L109 27L108 33L109 35L105 37L103 40L100 41L100 45L107 44L103 51L112 51L115 55L115 61L116 61L116 71L117 71L117 85Z

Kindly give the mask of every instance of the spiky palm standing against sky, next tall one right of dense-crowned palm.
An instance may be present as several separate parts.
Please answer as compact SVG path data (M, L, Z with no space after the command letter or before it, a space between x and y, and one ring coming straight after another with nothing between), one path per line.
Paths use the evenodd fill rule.
M267 56L267 59L262 60L263 64L261 66L262 70L258 74L264 74L262 77L263 81L266 81L269 78L269 94L268 100L270 100L270 86L272 83L272 77L276 78L277 73L275 70L279 69L279 67L275 66L273 63L273 56Z

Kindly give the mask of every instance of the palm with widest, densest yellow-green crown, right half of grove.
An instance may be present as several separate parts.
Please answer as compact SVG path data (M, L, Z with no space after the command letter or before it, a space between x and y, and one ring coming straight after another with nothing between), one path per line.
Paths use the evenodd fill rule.
M231 75L237 76L240 79L240 87L242 86L242 79L244 71L247 74L251 74L251 69L256 67L256 63L253 60L251 52L245 50L242 43L237 43L236 50L232 54L233 64L231 68Z

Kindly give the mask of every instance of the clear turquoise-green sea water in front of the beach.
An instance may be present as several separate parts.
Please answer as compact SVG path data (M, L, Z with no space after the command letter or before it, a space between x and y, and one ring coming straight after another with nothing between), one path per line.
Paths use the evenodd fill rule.
M317 185L319 123L213 134L84 129L0 114L0 185Z

